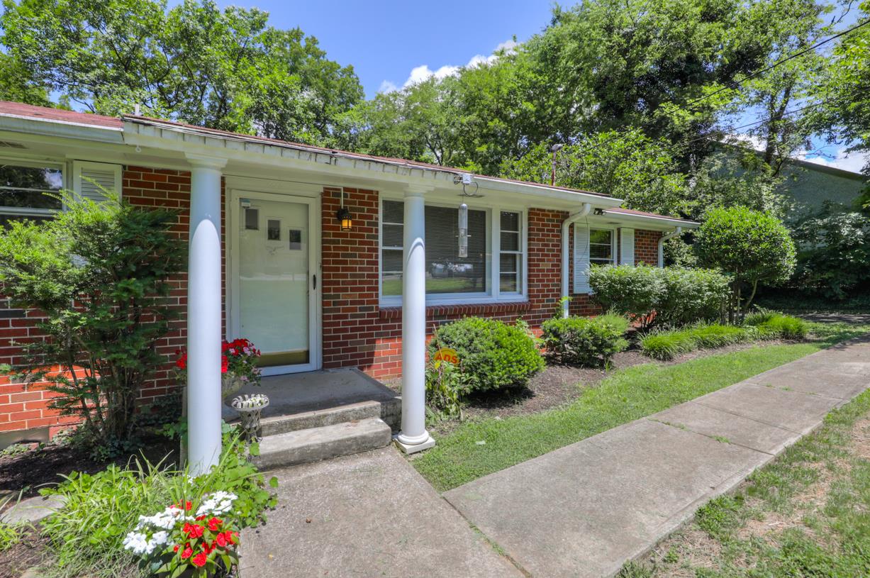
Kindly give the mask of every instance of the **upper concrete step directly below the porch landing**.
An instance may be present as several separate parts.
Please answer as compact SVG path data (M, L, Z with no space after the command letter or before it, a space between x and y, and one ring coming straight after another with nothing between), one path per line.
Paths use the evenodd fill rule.
M401 399L366 400L308 412L274 415L264 417L260 423L263 426L263 435L272 436L371 418L379 418L393 430L398 431L398 425L402 419Z

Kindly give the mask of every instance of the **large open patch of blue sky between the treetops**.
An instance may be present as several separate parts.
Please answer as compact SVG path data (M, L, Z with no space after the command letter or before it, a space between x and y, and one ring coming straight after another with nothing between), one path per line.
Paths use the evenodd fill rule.
M552 6L550 0L218 0L218 4L266 10L270 24L298 26L316 37L331 60L353 64L367 97L382 86L401 87L415 68L419 76L444 66L462 66L472 57L491 55L514 36L522 42L544 28Z

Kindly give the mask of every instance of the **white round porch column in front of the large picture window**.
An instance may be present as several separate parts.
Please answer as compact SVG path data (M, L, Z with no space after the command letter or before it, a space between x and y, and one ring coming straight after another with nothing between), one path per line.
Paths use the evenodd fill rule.
M426 431L425 189L405 190L402 273L402 431L398 446L413 454L435 445Z

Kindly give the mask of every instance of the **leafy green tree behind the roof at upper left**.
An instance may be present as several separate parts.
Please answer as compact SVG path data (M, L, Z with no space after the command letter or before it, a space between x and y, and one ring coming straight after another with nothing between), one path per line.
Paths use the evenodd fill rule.
M2 43L52 91L90 111L183 120L329 144L363 97L351 67L301 30L212 0L4 0Z

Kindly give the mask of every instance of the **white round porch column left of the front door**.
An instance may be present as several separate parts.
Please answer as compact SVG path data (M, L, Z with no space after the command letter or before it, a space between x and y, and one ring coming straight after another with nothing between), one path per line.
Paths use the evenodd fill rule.
M188 156L191 233L187 273L187 431L191 474L221 452L220 191L224 159Z

